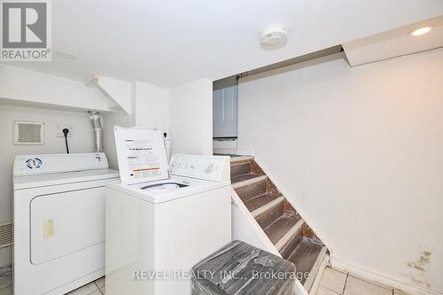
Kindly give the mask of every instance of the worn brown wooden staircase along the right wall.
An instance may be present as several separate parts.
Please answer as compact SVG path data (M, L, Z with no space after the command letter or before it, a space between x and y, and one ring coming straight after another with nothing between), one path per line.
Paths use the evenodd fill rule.
M322 241L252 157L232 157L230 176L238 197L276 250L295 264L297 277L309 292L327 255Z

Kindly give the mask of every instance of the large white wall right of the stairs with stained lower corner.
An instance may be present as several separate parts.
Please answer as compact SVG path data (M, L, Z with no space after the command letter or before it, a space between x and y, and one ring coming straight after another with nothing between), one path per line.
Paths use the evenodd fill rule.
M443 292L443 49L240 82L239 148L254 149L333 265ZM425 250L424 270L411 267Z

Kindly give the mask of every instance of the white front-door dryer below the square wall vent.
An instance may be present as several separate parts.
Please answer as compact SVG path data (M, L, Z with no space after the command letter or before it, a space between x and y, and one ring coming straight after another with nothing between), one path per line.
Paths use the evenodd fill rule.
M104 153L17 156L14 294L64 294L105 275Z

